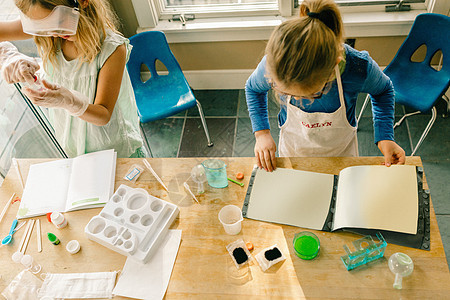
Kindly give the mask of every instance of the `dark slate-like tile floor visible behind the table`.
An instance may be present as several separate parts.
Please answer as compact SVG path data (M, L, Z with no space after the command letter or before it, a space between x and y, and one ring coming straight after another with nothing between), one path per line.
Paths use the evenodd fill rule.
M197 108L174 117L144 124L144 132L154 157L252 157L255 139L251 130L243 90L199 90L195 96L203 106L213 147L207 147L206 136ZM358 99L359 112L364 95ZM437 120L416 155L421 156L434 209L438 220L447 261L450 264L450 120L444 118L445 102L438 105ZM277 113L279 107L269 95L269 119L272 136L278 143ZM396 120L404 111L396 107ZM411 141L415 144L430 115L412 116L395 129L398 144L410 155ZM380 156L373 143L372 112L370 104L365 109L358 126L359 154Z

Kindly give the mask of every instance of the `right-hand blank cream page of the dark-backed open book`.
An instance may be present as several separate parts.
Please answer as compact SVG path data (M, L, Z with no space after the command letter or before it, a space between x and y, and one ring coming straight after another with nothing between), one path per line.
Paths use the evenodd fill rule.
M356 166L339 174L333 230L345 227L416 234L415 166Z

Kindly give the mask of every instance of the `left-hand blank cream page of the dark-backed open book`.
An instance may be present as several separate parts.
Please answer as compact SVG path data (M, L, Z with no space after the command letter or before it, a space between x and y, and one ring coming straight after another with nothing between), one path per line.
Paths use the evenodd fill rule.
M247 217L321 230L328 215L334 176L277 168L257 170Z

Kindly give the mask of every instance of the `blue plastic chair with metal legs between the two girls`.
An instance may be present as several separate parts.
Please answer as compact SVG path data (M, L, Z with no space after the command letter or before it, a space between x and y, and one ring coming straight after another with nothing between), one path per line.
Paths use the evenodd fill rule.
M164 33L161 31L142 32L130 37L130 44L133 45L133 50L127 63L127 69L136 97L141 130L142 123L173 116L197 105L208 140L208 147L213 146L200 102L195 99L180 65L169 48ZM156 71L157 60L166 66L167 75L158 74ZM145 82L141 80L142 65L146 65L151 73L150 79ZM150 147L148 148L150 150Z

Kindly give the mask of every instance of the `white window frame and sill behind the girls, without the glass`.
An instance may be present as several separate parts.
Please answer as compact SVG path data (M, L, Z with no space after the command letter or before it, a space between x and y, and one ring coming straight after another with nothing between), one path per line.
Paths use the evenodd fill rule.
M137 33L148 30L161 30L169 42L208 42L266 40L273 28L284 20L296 16L298 8L293 8L294 0L278 0L283 13L278 15L249 15L219 17L209 15L181 22L160 19L155 3L162 0L131 0L138 20ZM383 1L383 0L377 0ZM346 36L400 36L407 35L415 17L425 12L447 14L450 10L448 0L425 0L423 3L410 3L411 11L385 12L385 5L340 6ZM282 4L282 5L281 5Z

